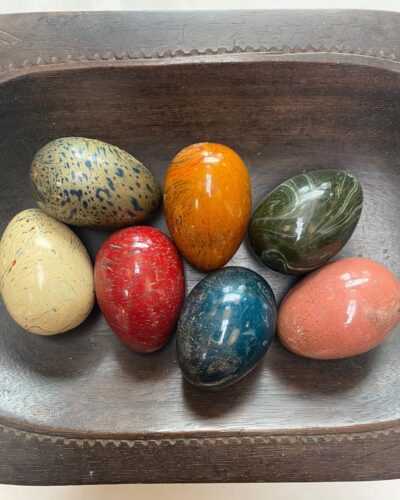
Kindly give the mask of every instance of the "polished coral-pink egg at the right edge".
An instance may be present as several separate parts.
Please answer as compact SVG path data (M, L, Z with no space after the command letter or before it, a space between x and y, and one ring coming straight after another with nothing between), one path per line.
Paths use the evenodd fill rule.
M382 264L352 257L296 284L281 304L278 335L314 359L355 356L379 345L400 322L400 284Z

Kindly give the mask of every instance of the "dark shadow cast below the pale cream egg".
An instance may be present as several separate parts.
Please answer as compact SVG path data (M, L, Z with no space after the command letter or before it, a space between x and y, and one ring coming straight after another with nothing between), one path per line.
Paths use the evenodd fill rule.
M104 349L96 338L101 321L97 306L78 327L51 336L24 331L8 314L3 321L2 356L24 372L45 378L73 379L90 372L103 357Z

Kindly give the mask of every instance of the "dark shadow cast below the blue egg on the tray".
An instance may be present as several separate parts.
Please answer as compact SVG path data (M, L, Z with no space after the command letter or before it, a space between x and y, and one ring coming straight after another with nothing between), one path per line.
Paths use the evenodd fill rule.
M207 390L195 387L182 376L182 396L185 408L204 418L215 418L244 405L256 392L259 378L265 370L262 360L241 380L223 389Z

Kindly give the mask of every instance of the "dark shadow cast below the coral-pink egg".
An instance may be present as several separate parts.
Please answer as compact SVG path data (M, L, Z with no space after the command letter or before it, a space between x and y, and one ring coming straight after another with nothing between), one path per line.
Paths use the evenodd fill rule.
M377 349L337 360L303 358L288 351L278 339L271 344L266 370L285 386L305 394L340 394L360 384L376 364Z

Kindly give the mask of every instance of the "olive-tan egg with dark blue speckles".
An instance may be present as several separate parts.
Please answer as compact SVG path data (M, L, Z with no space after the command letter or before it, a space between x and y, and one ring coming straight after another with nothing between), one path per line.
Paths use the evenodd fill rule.
M95 139L49 142L36 153L30 174L38 206L74 226L138 224L161 204L157 181L140 161Z

